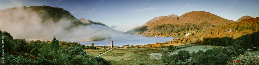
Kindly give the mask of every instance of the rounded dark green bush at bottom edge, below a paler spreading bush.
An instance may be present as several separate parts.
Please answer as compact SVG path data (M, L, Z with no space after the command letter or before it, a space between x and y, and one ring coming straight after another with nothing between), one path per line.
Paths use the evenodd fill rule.
M85 58L82 55L76 55L72 60L71 63L73 65L89 65L90 64L90 60Z

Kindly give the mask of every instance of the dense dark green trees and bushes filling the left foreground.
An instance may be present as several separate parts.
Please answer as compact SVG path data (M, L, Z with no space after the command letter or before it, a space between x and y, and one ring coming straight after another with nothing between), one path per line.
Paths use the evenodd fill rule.
M52 41L25 41L13 39L10 33L0 31L4 61L1 65L111 65L103 58L89 59L85 45L61 42L54 36ZM89 47L89 46L87 46ZM94 48L94 47L92 47Z

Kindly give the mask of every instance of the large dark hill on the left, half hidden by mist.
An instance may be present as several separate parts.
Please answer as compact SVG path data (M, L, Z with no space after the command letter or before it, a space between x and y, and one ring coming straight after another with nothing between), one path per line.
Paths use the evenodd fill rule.
M51 6L23 6L0 11L0 30L10 32L15 39L52 39L83 29L80 20L63 8Z

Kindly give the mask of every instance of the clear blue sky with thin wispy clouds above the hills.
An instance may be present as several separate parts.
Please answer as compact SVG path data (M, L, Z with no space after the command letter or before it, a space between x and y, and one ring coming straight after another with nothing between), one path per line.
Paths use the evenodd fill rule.
M61 7L77 19L101 22L126 32L154 17L181 16L191 11L206 11L233 21L245 15L259 17L258 3L259 0L1 0L0 10L18 6ZM96 7L95 12L92 7Z

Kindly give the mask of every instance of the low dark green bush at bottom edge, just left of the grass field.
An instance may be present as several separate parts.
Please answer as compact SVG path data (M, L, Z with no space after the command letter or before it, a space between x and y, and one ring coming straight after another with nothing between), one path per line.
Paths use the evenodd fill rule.
M104 59L102 57L95 57L95 58L92 58L90 60L93 62L94 65L100 65L100 64L111 65L111 63L109 61L107 61L106 59Z

